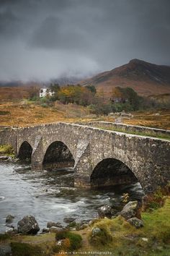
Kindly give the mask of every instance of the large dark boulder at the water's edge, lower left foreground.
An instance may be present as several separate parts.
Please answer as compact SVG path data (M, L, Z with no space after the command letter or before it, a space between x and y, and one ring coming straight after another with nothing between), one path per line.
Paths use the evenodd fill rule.
M25 216L17 223L18 232L22 234L37 234L40 230L34 216Z

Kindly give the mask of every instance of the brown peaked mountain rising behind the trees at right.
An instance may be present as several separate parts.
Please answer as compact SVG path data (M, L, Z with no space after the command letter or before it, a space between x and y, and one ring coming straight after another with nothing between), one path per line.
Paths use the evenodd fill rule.
M132 59L128 64L99 73L80 84L94 85L108 95L116 86L131 87L140 95L170 93L170 67Z

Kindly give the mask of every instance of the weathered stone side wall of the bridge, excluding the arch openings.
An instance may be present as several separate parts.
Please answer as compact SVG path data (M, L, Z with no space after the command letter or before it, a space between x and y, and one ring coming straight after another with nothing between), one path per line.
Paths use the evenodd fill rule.
M146 192L170 180L168 140L67 123L6 129L0 133L0 143L13 145L16 155L24 141L32 147L33 169L43 168L44 156L51 143L63 142L75 161L76 186L89 187L94 168L107 158L128 166Z

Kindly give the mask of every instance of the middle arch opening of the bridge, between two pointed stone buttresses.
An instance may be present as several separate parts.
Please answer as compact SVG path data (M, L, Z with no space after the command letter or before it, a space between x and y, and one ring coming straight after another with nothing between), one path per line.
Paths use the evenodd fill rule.
M42 168L52 170L56 168L73 167L75 160L68 146L60 141L55 140L48 145L42 161Z

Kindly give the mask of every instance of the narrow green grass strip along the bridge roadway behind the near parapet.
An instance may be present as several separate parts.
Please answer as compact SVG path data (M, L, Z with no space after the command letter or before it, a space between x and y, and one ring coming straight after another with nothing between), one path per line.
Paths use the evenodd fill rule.
M139 136L146 136L146 137L156 137L158 139L162 140L170 140L170 135L164 135L164 134L158 134L155 132L137 132L137 131L127 131L126 129L121 129L117 127L98 127L99 129L106 129L109 131L114 131L114 132L124 132L128 133L130 135L139 135Z

